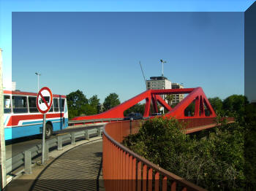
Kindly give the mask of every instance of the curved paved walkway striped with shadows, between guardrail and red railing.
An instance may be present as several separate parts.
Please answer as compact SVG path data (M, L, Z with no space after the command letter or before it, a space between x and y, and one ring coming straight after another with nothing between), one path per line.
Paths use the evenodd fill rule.
M104 190L102 140L83 144L49 161L33 180L23 175L7 190ZM34 174L34 171L33 171Z

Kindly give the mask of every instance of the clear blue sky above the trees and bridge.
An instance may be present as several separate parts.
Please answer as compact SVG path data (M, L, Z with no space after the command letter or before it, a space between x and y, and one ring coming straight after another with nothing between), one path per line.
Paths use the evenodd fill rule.
M164 59L172 82L208 97L243 94L244 11L253 1L184 2L1 1L4 80L36 92L39 71L53 93L125 101L145 90L139 61L149 78Z

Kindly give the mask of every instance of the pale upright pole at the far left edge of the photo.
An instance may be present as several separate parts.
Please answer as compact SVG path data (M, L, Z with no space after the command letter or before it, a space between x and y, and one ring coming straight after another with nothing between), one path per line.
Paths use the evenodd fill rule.
M0 139L1 139L1 187L4 188L7 184L6 174L6 152L5 152L5 139L4 139L4 91L3 91L3 79L2 79L2 59L0 48ZM0 190L1 190L0 187Z

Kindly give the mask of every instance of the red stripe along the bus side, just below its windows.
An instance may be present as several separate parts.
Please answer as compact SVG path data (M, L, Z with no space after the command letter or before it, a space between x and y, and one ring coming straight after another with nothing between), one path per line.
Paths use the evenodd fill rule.
M64 113L59 114L46 114L46 120L48 118L63 117ZM18 125L20 120L42 120L43 114L33 114L33 115L12 115L7 126Z

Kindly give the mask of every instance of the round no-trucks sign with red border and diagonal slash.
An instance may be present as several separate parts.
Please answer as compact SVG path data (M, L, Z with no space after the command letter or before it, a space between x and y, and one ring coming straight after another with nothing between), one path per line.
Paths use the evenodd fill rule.
M42 87L37 93L37 109L42 114L47 113L50 110L50 106L53 104L53 93L51 93L48 87Z

